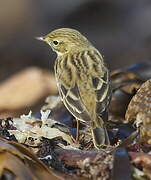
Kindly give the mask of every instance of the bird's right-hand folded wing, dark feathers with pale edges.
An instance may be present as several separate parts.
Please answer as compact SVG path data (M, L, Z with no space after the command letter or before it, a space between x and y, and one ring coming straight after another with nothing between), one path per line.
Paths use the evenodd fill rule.
M92 78L92 88L95 93L96 113L102 114L110 102L111 87L109 71L104 65L103 57L97 49L91 49L85 53L85 58L89 60L88 74Z

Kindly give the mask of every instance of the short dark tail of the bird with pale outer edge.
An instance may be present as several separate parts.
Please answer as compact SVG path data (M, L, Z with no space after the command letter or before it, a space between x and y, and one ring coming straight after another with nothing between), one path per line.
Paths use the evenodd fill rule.
M102 120L102 118L101 118ZM103 121L103 120L102 120ZM110 140L105 125L92 128L92 137L94 146L100 149L102 145L109 145Z

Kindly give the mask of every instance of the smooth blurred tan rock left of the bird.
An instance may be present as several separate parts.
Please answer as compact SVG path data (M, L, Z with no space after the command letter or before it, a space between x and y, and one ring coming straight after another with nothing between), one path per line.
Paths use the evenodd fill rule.
M55 77L37 67L27 68L0 84L0 112L31 107L49 94L57 92ZM6 113L7 114L7 113Z

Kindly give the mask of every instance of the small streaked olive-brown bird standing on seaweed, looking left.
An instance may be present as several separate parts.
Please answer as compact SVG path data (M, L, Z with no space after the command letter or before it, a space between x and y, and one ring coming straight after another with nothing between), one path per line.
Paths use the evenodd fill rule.
M54 71L65 107L77 121L91 128L95 148L109 145L105 123L112 93L109 70L101 53L71 28L55 29L36 39L57 53Z

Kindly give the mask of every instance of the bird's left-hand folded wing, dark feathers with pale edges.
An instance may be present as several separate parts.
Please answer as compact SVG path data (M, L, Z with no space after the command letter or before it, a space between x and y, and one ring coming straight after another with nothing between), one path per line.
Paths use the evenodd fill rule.
M89 122L91 122L91 116L81 100L76 80L73 81L72 79L70 79L70 68L65 68L61 73L58 73L57 71L59 68L61 67L57 67L56 63L55 73L57 86L64 105L76 119L79 119L83 122L86 121L87 124L90 125Z

